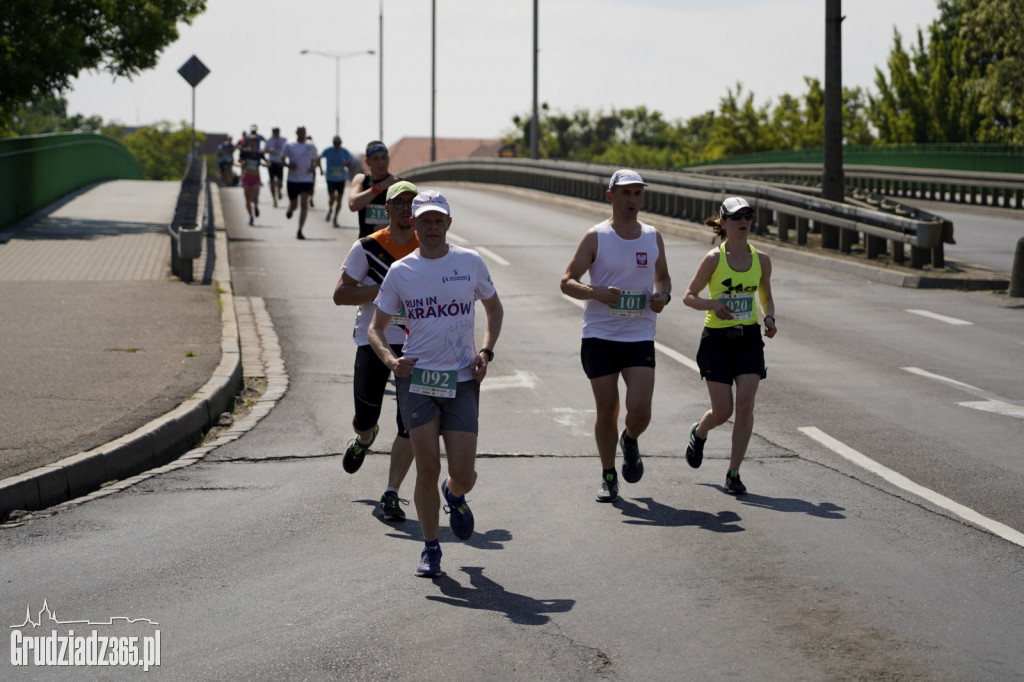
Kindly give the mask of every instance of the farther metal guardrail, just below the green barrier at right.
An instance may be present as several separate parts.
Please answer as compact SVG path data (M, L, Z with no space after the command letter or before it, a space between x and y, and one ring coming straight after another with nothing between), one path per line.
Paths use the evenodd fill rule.
M701 167L700 173L817 186L821 164L730 164ZM951 204L1024 208L1024 175L972 171L845 165L850 187L887 197Z

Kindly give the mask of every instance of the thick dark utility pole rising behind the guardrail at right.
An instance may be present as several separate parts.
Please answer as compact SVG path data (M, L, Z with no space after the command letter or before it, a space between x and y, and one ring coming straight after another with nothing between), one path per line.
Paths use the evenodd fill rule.
M825 130L824 168L821 176L821 198L843 202L846 179L843 176L843 2L825 0ZM843 230L845 233L848 230ZM821 246L840 248L840 229L834 225L821 227ZM843 239L844 242L849 238ZM843 251L849 251L849 246Z

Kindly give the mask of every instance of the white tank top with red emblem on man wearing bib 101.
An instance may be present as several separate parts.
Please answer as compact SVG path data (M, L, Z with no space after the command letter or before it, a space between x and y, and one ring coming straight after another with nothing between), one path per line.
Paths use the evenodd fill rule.
M595 300L583 311L583 337L607 341L651 341L657 316L650 310L654 293L657 230L640 223L640 237L624 240L607 220L596 225L597 256L590 266L590 285L617 287L618 305L611 308Z

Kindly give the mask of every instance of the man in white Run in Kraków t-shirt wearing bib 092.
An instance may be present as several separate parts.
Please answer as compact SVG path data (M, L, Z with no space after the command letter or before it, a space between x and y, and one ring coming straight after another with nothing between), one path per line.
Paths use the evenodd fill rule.
M374 304L369 340L395 376L398 406L409 429L416 459L416 511L424 549L417 572L440 574L438 542L444 439L449 475L441 482L452 531L459 540L473 535L473 514L466 494L476 483L476 434L480 382L494 359L504 310L490 273L479 254L447 243L452 209L438 191L426 190L413 201L413 224L419 248L391 265ZM476 301L486 324L483 346L473 334ZM401 357L387 341L391 316L404 312L407 339Z

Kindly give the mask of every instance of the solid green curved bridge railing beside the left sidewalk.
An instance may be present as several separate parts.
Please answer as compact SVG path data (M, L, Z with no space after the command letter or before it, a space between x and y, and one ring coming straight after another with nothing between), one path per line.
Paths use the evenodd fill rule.
M124 144L94 133L0 139L0 229L94 182L141 180Z

